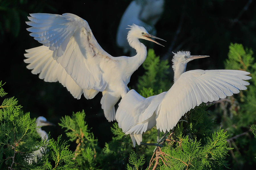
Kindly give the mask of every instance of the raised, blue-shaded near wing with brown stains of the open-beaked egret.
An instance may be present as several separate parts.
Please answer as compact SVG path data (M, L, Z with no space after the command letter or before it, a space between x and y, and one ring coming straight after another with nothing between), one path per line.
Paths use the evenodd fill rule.
M34 39L48 47L44 54L41 54L44 57L34 61L34 67L30 69L37 68L35 73L42 72L43 70L38 68L46 66L47 61L51 60L50 55L81 89L103 91L106 88L107 82L102 78L104 70L101 64L106 64L114 58L100 47L85 20L69 13L63 15L37 13L30 16L28 17L30 21L26 24L32 27L27 30L32 32L30 35ZM39 52L34 54L29 52L25 56L31 58L39 54ZM27 60L27 63L30 62ZM56 65L54 61L50 63ZM52 72L59 68L52 67Z

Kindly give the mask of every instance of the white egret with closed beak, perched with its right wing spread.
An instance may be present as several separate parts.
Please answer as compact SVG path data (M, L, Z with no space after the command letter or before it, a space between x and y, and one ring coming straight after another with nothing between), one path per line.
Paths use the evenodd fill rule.
M160 131L170 131L190 109L202 102L212 102L246 90L250 74L241 70L191 70L185 72L187 63L196 58L188 51L174 53L172 59L174 84L168 92L148 98L130 90L119 103L116 120L123 132L130 134L140 145L142 134L156 125ZM185 72L185 73L184 73Z

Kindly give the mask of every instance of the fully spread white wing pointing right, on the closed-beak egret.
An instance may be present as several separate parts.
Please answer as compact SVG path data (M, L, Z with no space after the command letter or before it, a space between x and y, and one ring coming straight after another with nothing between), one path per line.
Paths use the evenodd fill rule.
M167 92L156 112L156 128L160 131L172 129L181 116L202 102L246 90L250 74L240 70L192 70L183 73Z

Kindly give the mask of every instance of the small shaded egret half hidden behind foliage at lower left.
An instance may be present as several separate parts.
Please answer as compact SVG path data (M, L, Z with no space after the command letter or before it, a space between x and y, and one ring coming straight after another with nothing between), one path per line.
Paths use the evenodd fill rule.
M46 131L42 130L42 126L55 126L51 122L48 122L45 117L39 116L36 119L36 132L39 134L39 136L42 138L42 140L48 141L49 137ZM46 151L45 147L41 147L38 150L33 152L33 157L28 158L28 163L32 164L32 162L37 162L37 158L42 158L43 153Z

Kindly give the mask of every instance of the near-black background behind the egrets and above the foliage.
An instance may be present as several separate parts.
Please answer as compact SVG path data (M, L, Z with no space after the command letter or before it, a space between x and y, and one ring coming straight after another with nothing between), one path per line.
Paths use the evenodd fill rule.
M109 123L101 109L99 93L94 99L80 100L73 96L60 83L44 82L26 69L25 49L40 46L26 31L29 13L73 13L85 19L102 48L112 56L124 54L115 43L117 27L129 0L98 1L0 1L0 80L6 82L4 89L7 97L15 96L24 112L32 118L46 117L58 124L59 119L72 112L86 112L86 121L101 147L111 140ZM189 50L192 55L209 55L210 58L195 60L188 64L190 69L223 69L231 42L241 43L256 51L256 2L253 0L195 0L166 1L164 13L155 25L157 37L165 47L153 47L161 59L169 59L171 51ZM179 34L176 32L180 31ZM176 38L175 38L176 37ZM174 41L176 39L176 41ZM173 44L171 46L171 44ZM171 47L171 49L169 49ZM171 54L171 55L169 55ZM140 67L131 77L129 87L136 89L138 76L143 75ZM173 79L173 77L170 77ZM44 127L53 138L64 133L56 126Z

